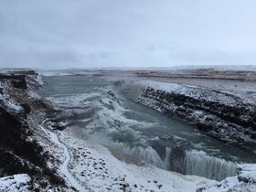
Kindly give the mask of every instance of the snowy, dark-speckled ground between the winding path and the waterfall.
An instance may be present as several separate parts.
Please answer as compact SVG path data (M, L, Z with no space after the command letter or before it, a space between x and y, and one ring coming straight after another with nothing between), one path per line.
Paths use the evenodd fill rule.
M95 192L103 191L196 191L197 183L208 179L182 176L152 165L127 164L115 158L109 149L91 144L68 133L60 133L60 140L69 146L69 171L83 186ZM125 188L125 190L124 190Z

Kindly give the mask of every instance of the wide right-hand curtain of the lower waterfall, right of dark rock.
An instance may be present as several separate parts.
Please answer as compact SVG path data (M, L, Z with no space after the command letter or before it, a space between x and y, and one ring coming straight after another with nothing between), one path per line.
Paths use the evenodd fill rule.
M186 151L185 173L222 180L227 176L236 176L235 163L207 155L203 151Z

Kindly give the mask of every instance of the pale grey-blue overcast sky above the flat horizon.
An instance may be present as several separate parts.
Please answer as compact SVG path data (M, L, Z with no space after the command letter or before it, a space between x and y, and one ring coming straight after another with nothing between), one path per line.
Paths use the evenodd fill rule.
M1 0L0 67L256 64L255 0Z

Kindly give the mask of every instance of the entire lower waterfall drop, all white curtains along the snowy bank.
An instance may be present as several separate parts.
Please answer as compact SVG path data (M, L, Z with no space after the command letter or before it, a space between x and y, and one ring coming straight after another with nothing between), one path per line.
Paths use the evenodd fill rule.
M161 158L150 146L129 146L122 143L114 143L112 146L151 165L185 175L204 176L219 181L228 176L236 176L237 165L235 163L207 155L203 151L185 151L184 160L182 160L181 156L174 154L176 152L171 147L165 147L165 156Z

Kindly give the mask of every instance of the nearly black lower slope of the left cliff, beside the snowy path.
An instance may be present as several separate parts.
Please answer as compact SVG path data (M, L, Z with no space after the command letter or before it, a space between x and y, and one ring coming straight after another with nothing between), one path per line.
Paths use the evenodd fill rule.
M35 140L27 140L32 133L26 120L6 112L0 106L0 173L1 176L28 174L47 176L52 184L64 181L48 168L48 154Z

